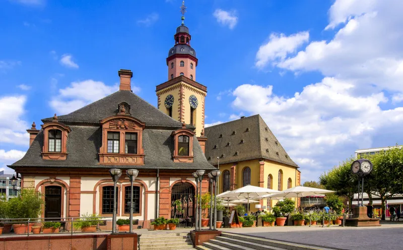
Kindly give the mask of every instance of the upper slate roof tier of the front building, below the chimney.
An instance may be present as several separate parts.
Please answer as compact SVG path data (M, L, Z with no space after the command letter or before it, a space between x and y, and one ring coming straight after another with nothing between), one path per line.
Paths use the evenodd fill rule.
M146 126L182 127L179 121L164 114L138 95L126 90L119 90L70 114L59 115L58 121L99 124L100 120L116 115L118 112L117 105L121 102L127 102L130 105L131 116L145 122ZM52 117L42 119L43 122L51 120Z

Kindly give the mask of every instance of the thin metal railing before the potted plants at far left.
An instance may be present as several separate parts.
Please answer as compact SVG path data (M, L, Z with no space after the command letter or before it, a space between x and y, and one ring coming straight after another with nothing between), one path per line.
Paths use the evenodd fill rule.
M73 235L73 233L87 233L87 232L83 232L82 228L76 227L75 228L75 223L77 223L78 221L88 221L88 222L97 222L96 223L96 232L111 232L112 228L110 230L106 230L106 225L107 225L107 221L112 221L112 218L97 218L97 219L92 219L92 218L88 218L88 217L65 217L65 218L15 218L15 219L0 219L0 223L4 224L4 225L10 225L10 230L11 230L11 226L14 224L25 224L25 228L26 228L26 232L23 234L18 234L18 235L27 235L28 237L30 235L32 235L33 233L31 233L30 227L32 228L32 226L35 225L41 225L41 231L43 228L43 223L46 222L60 222L60 227L58 227L59 229L61 228L61 230L57 233L52 233L52 234L71 234ZM93 223L94 224L94 223ZM101 226L105 226L105 229L101 229ZM70 229L70 230L69 230ZM40 234L43 234L40 232ZM47 233L45 233L47 234ZM3 229L3 235L16 235L14 233L5 233L4 229Z

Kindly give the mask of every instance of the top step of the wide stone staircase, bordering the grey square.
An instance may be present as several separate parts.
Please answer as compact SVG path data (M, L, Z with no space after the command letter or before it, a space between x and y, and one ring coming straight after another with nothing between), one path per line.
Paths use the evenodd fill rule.
M240 242L257 243L257 244L261 244L263 246L272 246L272 247L274 246L274 247L278 247L279 249L289 249L289 250L330 250L330 248L326 248L326 247L310 246L310 245L304 245L304 244L299 244L299 243L291 243L291 242L280 241L280 240L258 238L258 237L253 237L251 235L245 235L245 234L233 234L233 233L223 232L220 237L236 239L236 240L239 240ZM217 237L217 238L219 238L219 237ZM252 244L249 244L248 246L252 247ZM265 249L265 248L255 248L255 249ZM267 249L272 249L272 248L267 248Z

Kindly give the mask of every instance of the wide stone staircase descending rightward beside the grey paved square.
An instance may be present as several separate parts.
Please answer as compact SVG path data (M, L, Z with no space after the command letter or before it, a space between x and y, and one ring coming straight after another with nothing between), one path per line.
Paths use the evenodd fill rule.
M199 250L330 250L331 248L290 243L280 240L253 237L251 235L222 232L221 236L211 239L203 245L196 246ZM334 249L334 248L333 248Z

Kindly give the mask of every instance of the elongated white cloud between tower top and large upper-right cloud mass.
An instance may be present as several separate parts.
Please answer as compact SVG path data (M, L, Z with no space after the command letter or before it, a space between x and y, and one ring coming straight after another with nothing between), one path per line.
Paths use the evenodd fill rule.
M256 67L262 68L270 61L284 60L303 43L309 40L309 32L299 32L290 36L271 34L269 41L261 45L256 53Z

